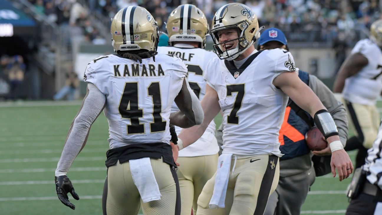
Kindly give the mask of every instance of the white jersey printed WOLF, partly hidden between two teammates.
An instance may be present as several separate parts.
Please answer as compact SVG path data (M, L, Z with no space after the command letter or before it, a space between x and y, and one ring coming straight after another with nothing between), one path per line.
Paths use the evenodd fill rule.
M161 46L158 47L158 53L173 54L181 59L188 68L188 83L193 89L196 96L202 101L206 94L206 81L203 75L206 71L207 64L210 59L216 57L212 51L207 51L200 48L195 48L188 44L175 44L175 46ZM178 111L178 107L173 103L171 112ZM179 151L180 157L193 157L203 155L215 155L219 152L219 146L215 138L215 122L212 121L207 127L206 131L199 140L192 145ZM175 126L176 134L181 131L180 127Z

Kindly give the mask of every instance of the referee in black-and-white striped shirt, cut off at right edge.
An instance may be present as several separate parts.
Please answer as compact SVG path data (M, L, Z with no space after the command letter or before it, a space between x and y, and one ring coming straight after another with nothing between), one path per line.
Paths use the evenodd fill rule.
M381 215L382 214L382 125L373 147L367 151L366 163L361 168L366 177L360 194L350 201L346 215ZM360 178L362 181L362 178Z

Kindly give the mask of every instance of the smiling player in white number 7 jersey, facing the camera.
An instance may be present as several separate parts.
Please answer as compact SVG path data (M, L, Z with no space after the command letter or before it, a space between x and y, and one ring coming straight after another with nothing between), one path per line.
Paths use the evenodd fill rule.
M335 122L299 79L290 52L254 48L259 30L256 15L241 3L224 5L215 13L210 34L218 56L204 73L204 121L183 129L177 145L181 150L195 142L222 110L223 153L217 172L199 195L197 215L264 213L278 183L278 158L282 156L278 131L288 96L311 114L330 143L333 176L335 168L340 181L353 171ZM176 158L176 147L173 154Z

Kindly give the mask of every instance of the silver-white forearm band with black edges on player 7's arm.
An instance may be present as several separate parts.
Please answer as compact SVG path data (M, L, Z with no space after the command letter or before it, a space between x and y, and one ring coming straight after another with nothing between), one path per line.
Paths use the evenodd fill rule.
M314 123L317 128L324 135L325 139L328 137L338 135L337 126L333 120L332 115L327 110L319 110L314 114Z

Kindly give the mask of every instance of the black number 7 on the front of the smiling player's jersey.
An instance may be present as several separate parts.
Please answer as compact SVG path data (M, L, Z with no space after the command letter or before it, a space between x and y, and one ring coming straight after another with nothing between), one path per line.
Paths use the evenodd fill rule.
M243 103L245 84L235 84L235 85L227 85L227 96L232 96L232 93L236 94L235 103L233 104L232 111L230 115L227 116L228 124L239 124L239 117L237 116L237 112L241 108L241 104Z

